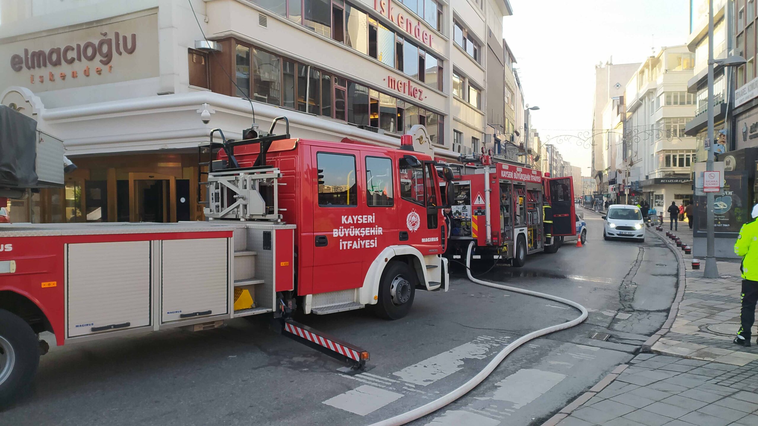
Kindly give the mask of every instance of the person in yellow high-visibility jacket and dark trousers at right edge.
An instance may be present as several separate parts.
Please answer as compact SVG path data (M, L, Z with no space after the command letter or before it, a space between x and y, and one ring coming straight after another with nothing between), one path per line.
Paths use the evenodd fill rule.
M742 256L742 311L741 327L735 337L735 343L750 346L750 331L756 316L758 302L758 204L753 206L753 221L742 225L740 235L735 243L735 254Z

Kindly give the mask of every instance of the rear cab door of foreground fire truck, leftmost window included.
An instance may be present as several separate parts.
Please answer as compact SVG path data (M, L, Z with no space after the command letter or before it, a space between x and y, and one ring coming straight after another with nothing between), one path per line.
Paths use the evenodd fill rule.
M318 196L313 208L313 288L327 293L361 287L361 267L374 236L360 230L373 227L375 215L367 214L362 199L362 164L359 151L324 152L314 147L312 161L318 168Z

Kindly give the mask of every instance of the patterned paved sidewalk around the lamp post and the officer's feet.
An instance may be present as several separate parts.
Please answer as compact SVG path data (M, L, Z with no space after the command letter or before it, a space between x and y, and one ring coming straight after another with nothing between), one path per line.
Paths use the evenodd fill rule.
M758 329L753 329L753 346L744 348L731 341L740 327L741 277L738 262L718 262L721 277L712 280L703 278L705 259L700 259L700 270L691 267L692 255L684 255L672 240L666 237L668 224L659 233L666 243L673 246L678 258L684 263L684 297L672 305L675 319L664 324L662 337L653 344L652 351L690 359L723 362L731 365L747 365L758 361ZM692 232L686 224L675 234L682 243L692 245ZM683 283L679 283L681 287ZM666 330L668 329L668 330ZM756 424L758 426L758 424Z

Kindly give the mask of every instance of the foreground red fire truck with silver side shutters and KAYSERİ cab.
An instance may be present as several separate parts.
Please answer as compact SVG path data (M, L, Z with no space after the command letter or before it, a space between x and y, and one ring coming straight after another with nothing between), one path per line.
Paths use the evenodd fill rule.
M2 110L0 132L36 126L28 121ZM280 121L287 130L275 135ZM268 314L283 335L362 369L367 351L292 312L370 307L396 319L416 290L446 291L440 182L452 171L409 150L409 136L390 149L289 130L278 117L243 140L211 131L201 147L209 221L0 225L0 405L32 380L48 349L44 331L61 346ZM39 176L19 183L13 177L28 170L0 174L0 196L63 182L61 158L45 158L62 157L62 144L43 152L33 131L13 136L0 139L0 160L4 150L36 150L29 168ZM42 182L42 164L59 164L60 176Z

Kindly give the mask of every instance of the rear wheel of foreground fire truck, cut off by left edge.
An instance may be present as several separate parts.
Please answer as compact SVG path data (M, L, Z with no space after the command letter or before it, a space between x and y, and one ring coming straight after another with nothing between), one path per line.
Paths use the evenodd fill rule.
M39 352L32 327L0 309L0 410L30 384L39 365Z

